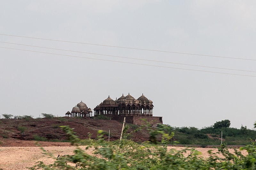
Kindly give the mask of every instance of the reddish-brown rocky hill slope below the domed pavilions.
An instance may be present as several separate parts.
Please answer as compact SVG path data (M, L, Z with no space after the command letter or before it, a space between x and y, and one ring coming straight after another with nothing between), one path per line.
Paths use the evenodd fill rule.
M97 131L103 130L108 137L110 130L110 140L120 138L122 123L115 120L94 120L85 118L56 117L52 119L0 119L0 139L13 138L20 140L42 140L42 141L65 141L66 134L60 126L68 125L74 128L76 135L81 139L97 137ZM130 125L129 131L137 129L138 126ZM133 133L131 139L134 141L148 140L148 132L141 130Z

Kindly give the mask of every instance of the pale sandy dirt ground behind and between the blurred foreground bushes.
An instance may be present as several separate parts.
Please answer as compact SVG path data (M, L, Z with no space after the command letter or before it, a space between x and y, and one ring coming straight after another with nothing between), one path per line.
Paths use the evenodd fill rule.
M22 140L1 140L0 147L0 170L25 170L26 167L35 165L37 161L43 161L45 164L51 164L56 159L48 158L43 154L43 151L37 144L44 147L44 149L54 156L73 154L75 146L71 146L69 143L64 142L38 142L35 141L22 141ZM80 146L85 149L86 146ZM184 149L183 147L168 147L169 149ZM208 150L211 148L196 148L196 150L202 152L204 158L208 157ZM217 152L218 149L212 148L213 152ZM232 151L232 149L230 149ZM93 150L86 151L88 154L93 154ZM246 154L246 152L242 152Z

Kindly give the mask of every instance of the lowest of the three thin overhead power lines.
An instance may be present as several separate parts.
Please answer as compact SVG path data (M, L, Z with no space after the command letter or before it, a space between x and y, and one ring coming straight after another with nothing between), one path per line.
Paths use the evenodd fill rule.
M98 59L98 58L81 57L81 56L75 56L75 55L64 55L64 54L56 54L56 53L47 53L47 52L32 51L32 50L25 50L25 49L18 49L18 48L7 48L7 47L0 47L0 48L15 49L15 50L22 50L22 51L30 51L30 52L37 52L37 53L44 53L44 54L52 54L52 55L62 55L62 56L77 57L77 58L86 58L86 59L100 60L100 61L109 61L109 62L116 62L116 63L128 63L128 64L145 65L145 66L161 67L161 68L170 68L170 69L179 69L179 70L190 70L190 71L201 71L201 72L228 74L228 75L236 75L236 76L256 77L256 76L243 75L243 74L232 74L232 73L223 73L223 72L216 72L216 71L204 71L204 70L182 69L182 68L166 67L166 66L158 66L158 65L150 65L150 64L130 63L130 62L115 61L115 60L105 60L105 59Z

